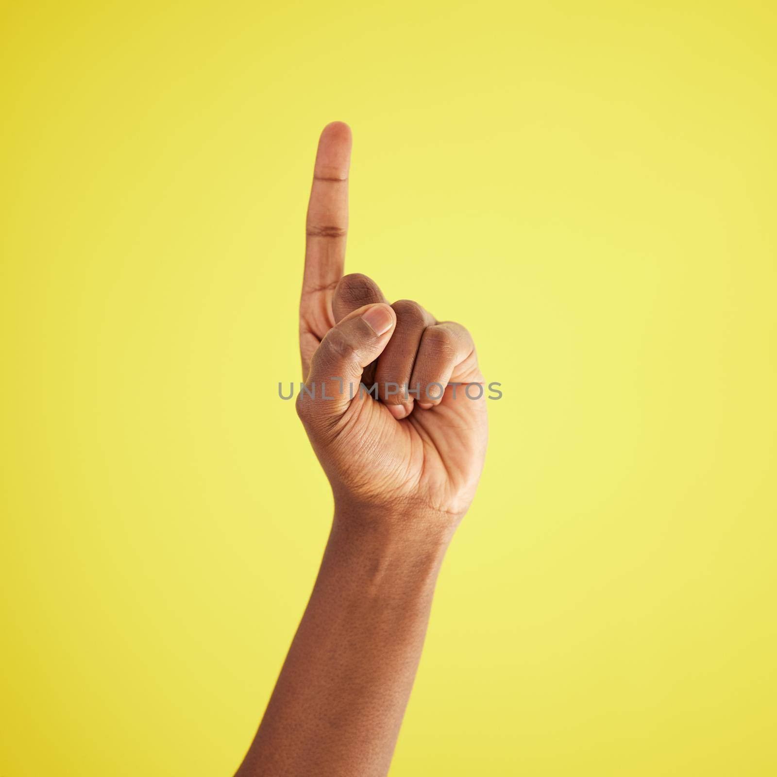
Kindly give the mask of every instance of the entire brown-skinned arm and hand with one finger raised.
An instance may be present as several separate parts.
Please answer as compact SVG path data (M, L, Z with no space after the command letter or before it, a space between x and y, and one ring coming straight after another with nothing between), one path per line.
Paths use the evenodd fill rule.
M297 410L332 485L333 527L238 777L389 771L437 573L486 454L486 400L452 385L483 384L466 329L414 301L389 305L368 277L343 277L350 147L346 124L324 128L300 301L315 398L299 395ZM377 382L379 400L360 382ZM420 395L392 384L420 385Z

